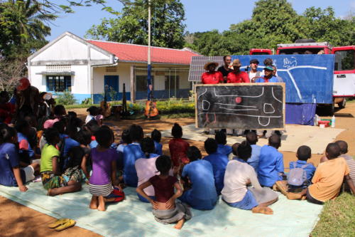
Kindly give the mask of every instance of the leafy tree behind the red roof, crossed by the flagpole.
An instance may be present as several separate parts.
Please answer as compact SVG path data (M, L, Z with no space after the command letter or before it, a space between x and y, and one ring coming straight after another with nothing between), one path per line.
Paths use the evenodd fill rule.
M120 16L92 26L87 37L122 43L148 44L148 0L124 1ZM152 45L182 48L185 10L180 0L152 1Z

